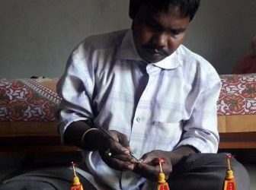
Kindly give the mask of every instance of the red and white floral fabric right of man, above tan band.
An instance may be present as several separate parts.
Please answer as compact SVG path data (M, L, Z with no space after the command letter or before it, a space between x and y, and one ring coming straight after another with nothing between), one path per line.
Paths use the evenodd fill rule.
M226 74L221 81L218 116L256 113L256 74Z

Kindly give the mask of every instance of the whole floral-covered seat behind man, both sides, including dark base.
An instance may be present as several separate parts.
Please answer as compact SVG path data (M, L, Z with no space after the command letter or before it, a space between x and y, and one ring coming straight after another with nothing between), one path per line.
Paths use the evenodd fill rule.
M256 74L220 75L220 149L256 147ZM58 78L0 80L0 151L70 152L57 132Z

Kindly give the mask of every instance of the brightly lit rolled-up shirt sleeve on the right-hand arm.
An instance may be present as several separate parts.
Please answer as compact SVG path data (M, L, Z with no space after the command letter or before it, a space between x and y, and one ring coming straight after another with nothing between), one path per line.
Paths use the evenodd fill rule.
M200 84L203 90L194 105L190 119L184 123L184 133L177 147L190 145L201 153L216 153L219 145L217 105L221 83L219 76L209 74Z

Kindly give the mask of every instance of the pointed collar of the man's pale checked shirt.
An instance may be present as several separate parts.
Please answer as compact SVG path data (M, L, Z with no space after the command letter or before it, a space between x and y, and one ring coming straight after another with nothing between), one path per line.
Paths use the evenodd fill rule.
M165 59L162 59L160 62L151 63L150 65L165 69L178 68L178 66L181 65L181 61L178 59L178 54L181 53L179 49L180 47ZM136 50L131 29L126 31L120 49L117 51L116 58L144 62Z

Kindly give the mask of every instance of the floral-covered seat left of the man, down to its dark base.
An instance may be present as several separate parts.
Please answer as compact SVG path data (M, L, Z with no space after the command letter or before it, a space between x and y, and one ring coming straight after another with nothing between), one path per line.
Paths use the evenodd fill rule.
M0 80L1 152L72 152L57 132L58 78Z

